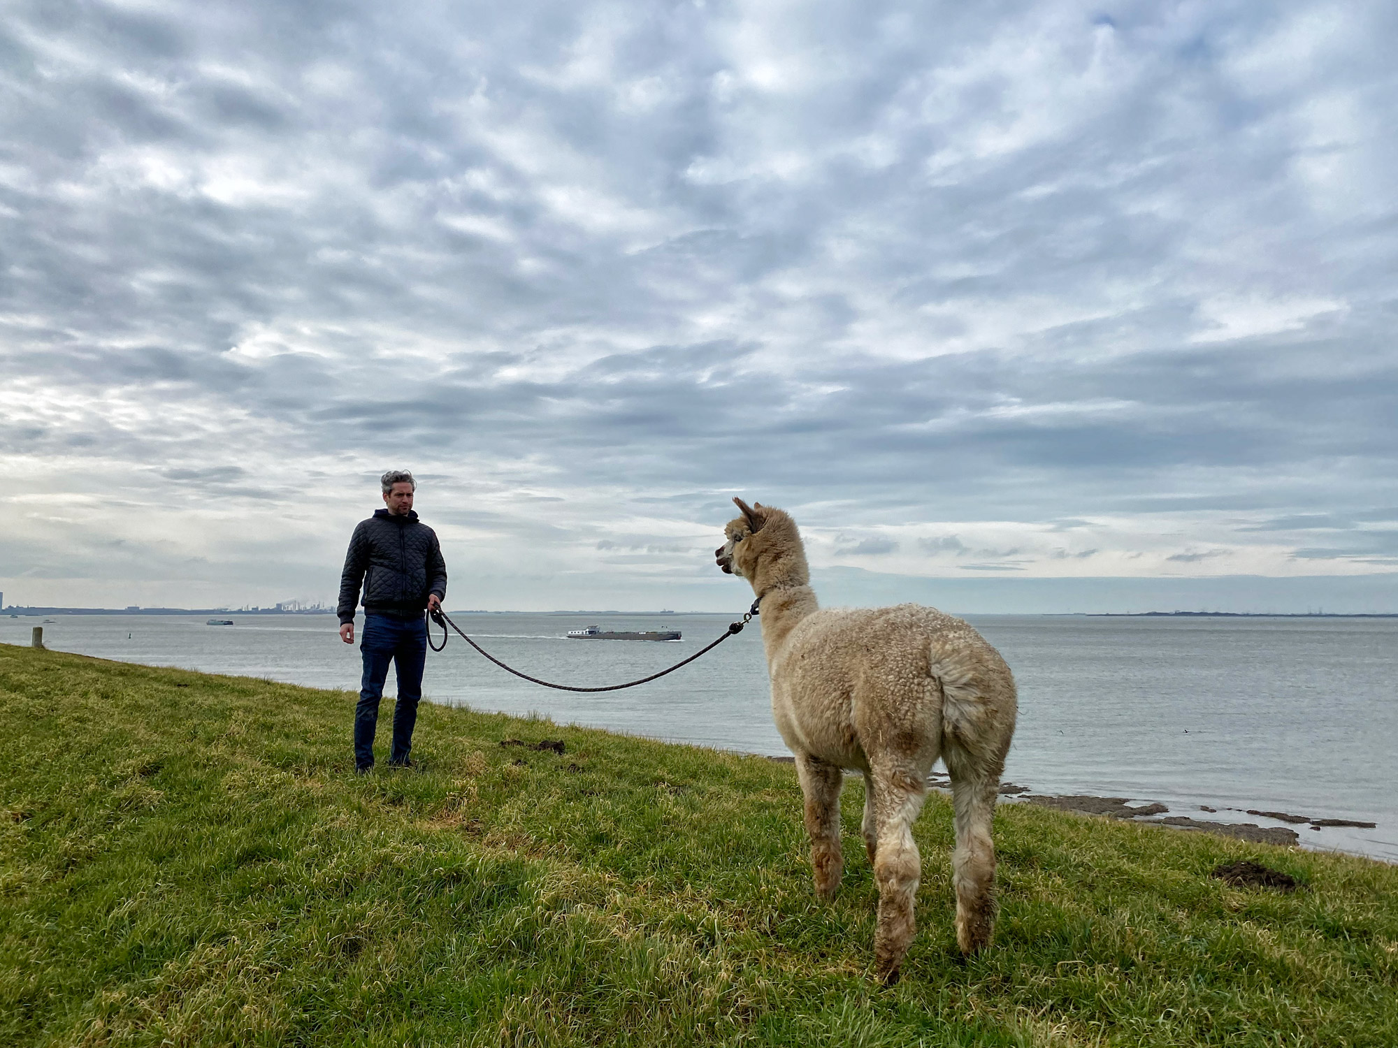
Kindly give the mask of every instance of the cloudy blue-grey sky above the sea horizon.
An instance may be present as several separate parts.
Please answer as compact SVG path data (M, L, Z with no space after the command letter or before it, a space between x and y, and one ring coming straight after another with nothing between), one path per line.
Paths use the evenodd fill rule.
M0 8L7 604L1398 611L1398 7ZM1152 604L1153 602L1153 604ZM1265 605L1265 608L1264 608Z

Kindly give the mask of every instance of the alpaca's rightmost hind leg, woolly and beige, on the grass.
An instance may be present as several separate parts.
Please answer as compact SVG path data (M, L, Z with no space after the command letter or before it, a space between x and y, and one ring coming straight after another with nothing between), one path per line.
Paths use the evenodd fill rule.
M987 767L988 762L977 762L965 750L948 746L944 757L956 812L956 850L952 852L956 945L969 956L990 945L995 928L995 844L990 830L1000 774L998 767Z

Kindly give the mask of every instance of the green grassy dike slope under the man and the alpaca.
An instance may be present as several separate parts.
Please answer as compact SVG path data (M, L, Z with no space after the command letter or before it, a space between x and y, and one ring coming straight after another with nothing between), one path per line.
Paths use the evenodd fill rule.
M0 704L6 1045L1398 1044L1377 862L1002 805L963 964L934 796L882 989L858 780L825 905L788 764L424 704L356 778L348 693L10 646Z

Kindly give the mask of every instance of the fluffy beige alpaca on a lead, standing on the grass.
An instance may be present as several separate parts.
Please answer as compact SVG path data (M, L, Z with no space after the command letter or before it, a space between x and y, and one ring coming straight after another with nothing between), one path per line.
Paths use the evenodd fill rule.
M991 817L1015 731L1009 667L967 623L932 608L821 611L795 521L734 499L714 558L752 584L772 678L772 715L795 755L815 891L840 886L840 785L864 773L864 847L878 883L875 974L898 980L914 932L921 858L911 826L938 757L952 780L956 943L972 954L995 922Z

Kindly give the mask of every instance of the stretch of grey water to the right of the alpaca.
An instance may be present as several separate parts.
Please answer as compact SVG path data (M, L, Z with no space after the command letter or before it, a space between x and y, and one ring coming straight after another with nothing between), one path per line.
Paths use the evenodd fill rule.
M1019 685L1007 776L1039 792L1160 801L1293 826L1307 847L1398 861L1398 619L973 619Z

